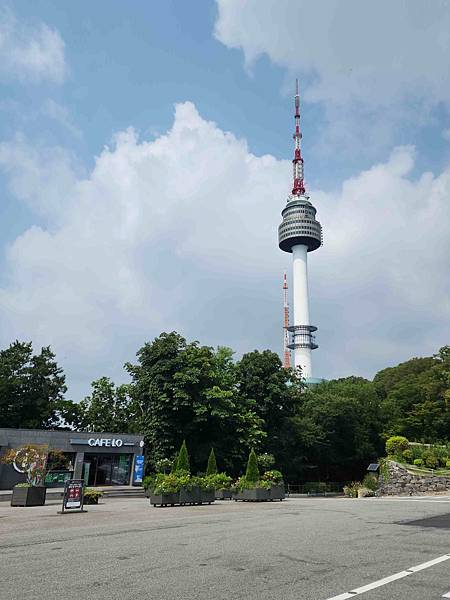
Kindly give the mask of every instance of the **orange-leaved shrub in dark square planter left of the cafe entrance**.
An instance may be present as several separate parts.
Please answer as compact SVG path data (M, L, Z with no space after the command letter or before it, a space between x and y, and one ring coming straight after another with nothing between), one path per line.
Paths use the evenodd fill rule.
M42 506L45 504L47 488L44 485L48 446L26 444L8 450L2 462L12 465L26 475L26 483L13 488L11 506Z

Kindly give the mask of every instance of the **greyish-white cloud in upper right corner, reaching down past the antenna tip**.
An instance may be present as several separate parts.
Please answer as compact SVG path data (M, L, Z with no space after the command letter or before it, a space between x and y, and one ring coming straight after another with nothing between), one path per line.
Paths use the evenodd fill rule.
M219 41L241 49L249 69L266 55L286 69L285 91L298 76L304 100L322 104L314 148L322 159L345 154L369 164L397 143L401 127L411 135L434 107L450 107L444 0L216 1Z

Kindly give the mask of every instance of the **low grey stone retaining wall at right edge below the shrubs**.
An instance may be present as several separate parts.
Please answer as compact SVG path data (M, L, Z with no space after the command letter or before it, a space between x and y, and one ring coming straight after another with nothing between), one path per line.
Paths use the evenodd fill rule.
M437 477L433 475L412 475L405 467L390 461L388 463L389 477L384 481L380 475L378 494L416 496L419 494L432 494L435 492L450 492L450 477Z

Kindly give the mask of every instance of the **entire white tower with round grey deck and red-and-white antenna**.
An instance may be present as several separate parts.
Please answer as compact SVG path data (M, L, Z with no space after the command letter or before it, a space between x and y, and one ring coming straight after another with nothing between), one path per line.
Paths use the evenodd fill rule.
M305 191L303 158L301 153L300 131L300 95L298 81L295 94L295 132L294 132L294 185L281 212L283 218L278 227L278 245L293 257L293 301L294 325L288 327L292 339L289 348L294 350L294 365L301 369L302 376L308 381L312 378L311 351L317 348L314 332L317 327L311 325L309 318L308 291L308 252L322 245L322 226L316 220L316 209L309 201Z

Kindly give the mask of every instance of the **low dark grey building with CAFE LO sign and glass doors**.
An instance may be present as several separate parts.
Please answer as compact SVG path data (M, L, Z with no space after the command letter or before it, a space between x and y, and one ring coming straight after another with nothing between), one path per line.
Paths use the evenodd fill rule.
M3 464L1 456L26 444L59 450L66 458L63 468L46 476L49 487L67 479L83 479L88 486L141 485L144 472L144 437L129 433L0 429L0 490L10 490L26 480L15 465Z

